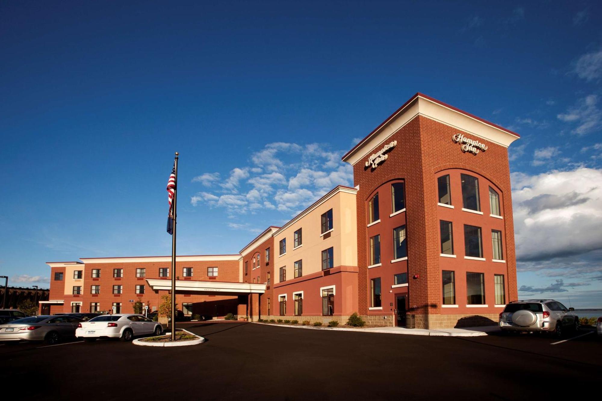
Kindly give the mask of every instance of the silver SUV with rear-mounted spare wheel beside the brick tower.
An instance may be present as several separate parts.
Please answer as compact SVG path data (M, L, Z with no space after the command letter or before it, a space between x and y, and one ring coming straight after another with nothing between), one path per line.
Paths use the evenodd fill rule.
M562 337L567 330L579 330L574 308L566 308L553 299L529 299L510 302L500 313L503 332L552 332Z

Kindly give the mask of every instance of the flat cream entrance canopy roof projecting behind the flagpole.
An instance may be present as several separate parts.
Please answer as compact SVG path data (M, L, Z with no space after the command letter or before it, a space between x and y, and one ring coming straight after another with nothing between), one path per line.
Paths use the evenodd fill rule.
M171 290L171 280L146 279L153 290ZM247 282L192 281L176 280L176 292L194 291L197 293L263 294L265 284Z

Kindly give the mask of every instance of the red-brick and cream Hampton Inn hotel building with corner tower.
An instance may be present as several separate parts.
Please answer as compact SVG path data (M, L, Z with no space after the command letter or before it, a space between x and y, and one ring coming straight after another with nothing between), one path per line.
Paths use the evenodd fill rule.
M517 299L507 148L518 134L417 93L347 152L338 186L235 255L178 256L185 314L417 328L491 324ZM51 312L156 309L170 258L48 263ZM140 291L143 291L140 294ZM282 318L285 316L285 318Z

